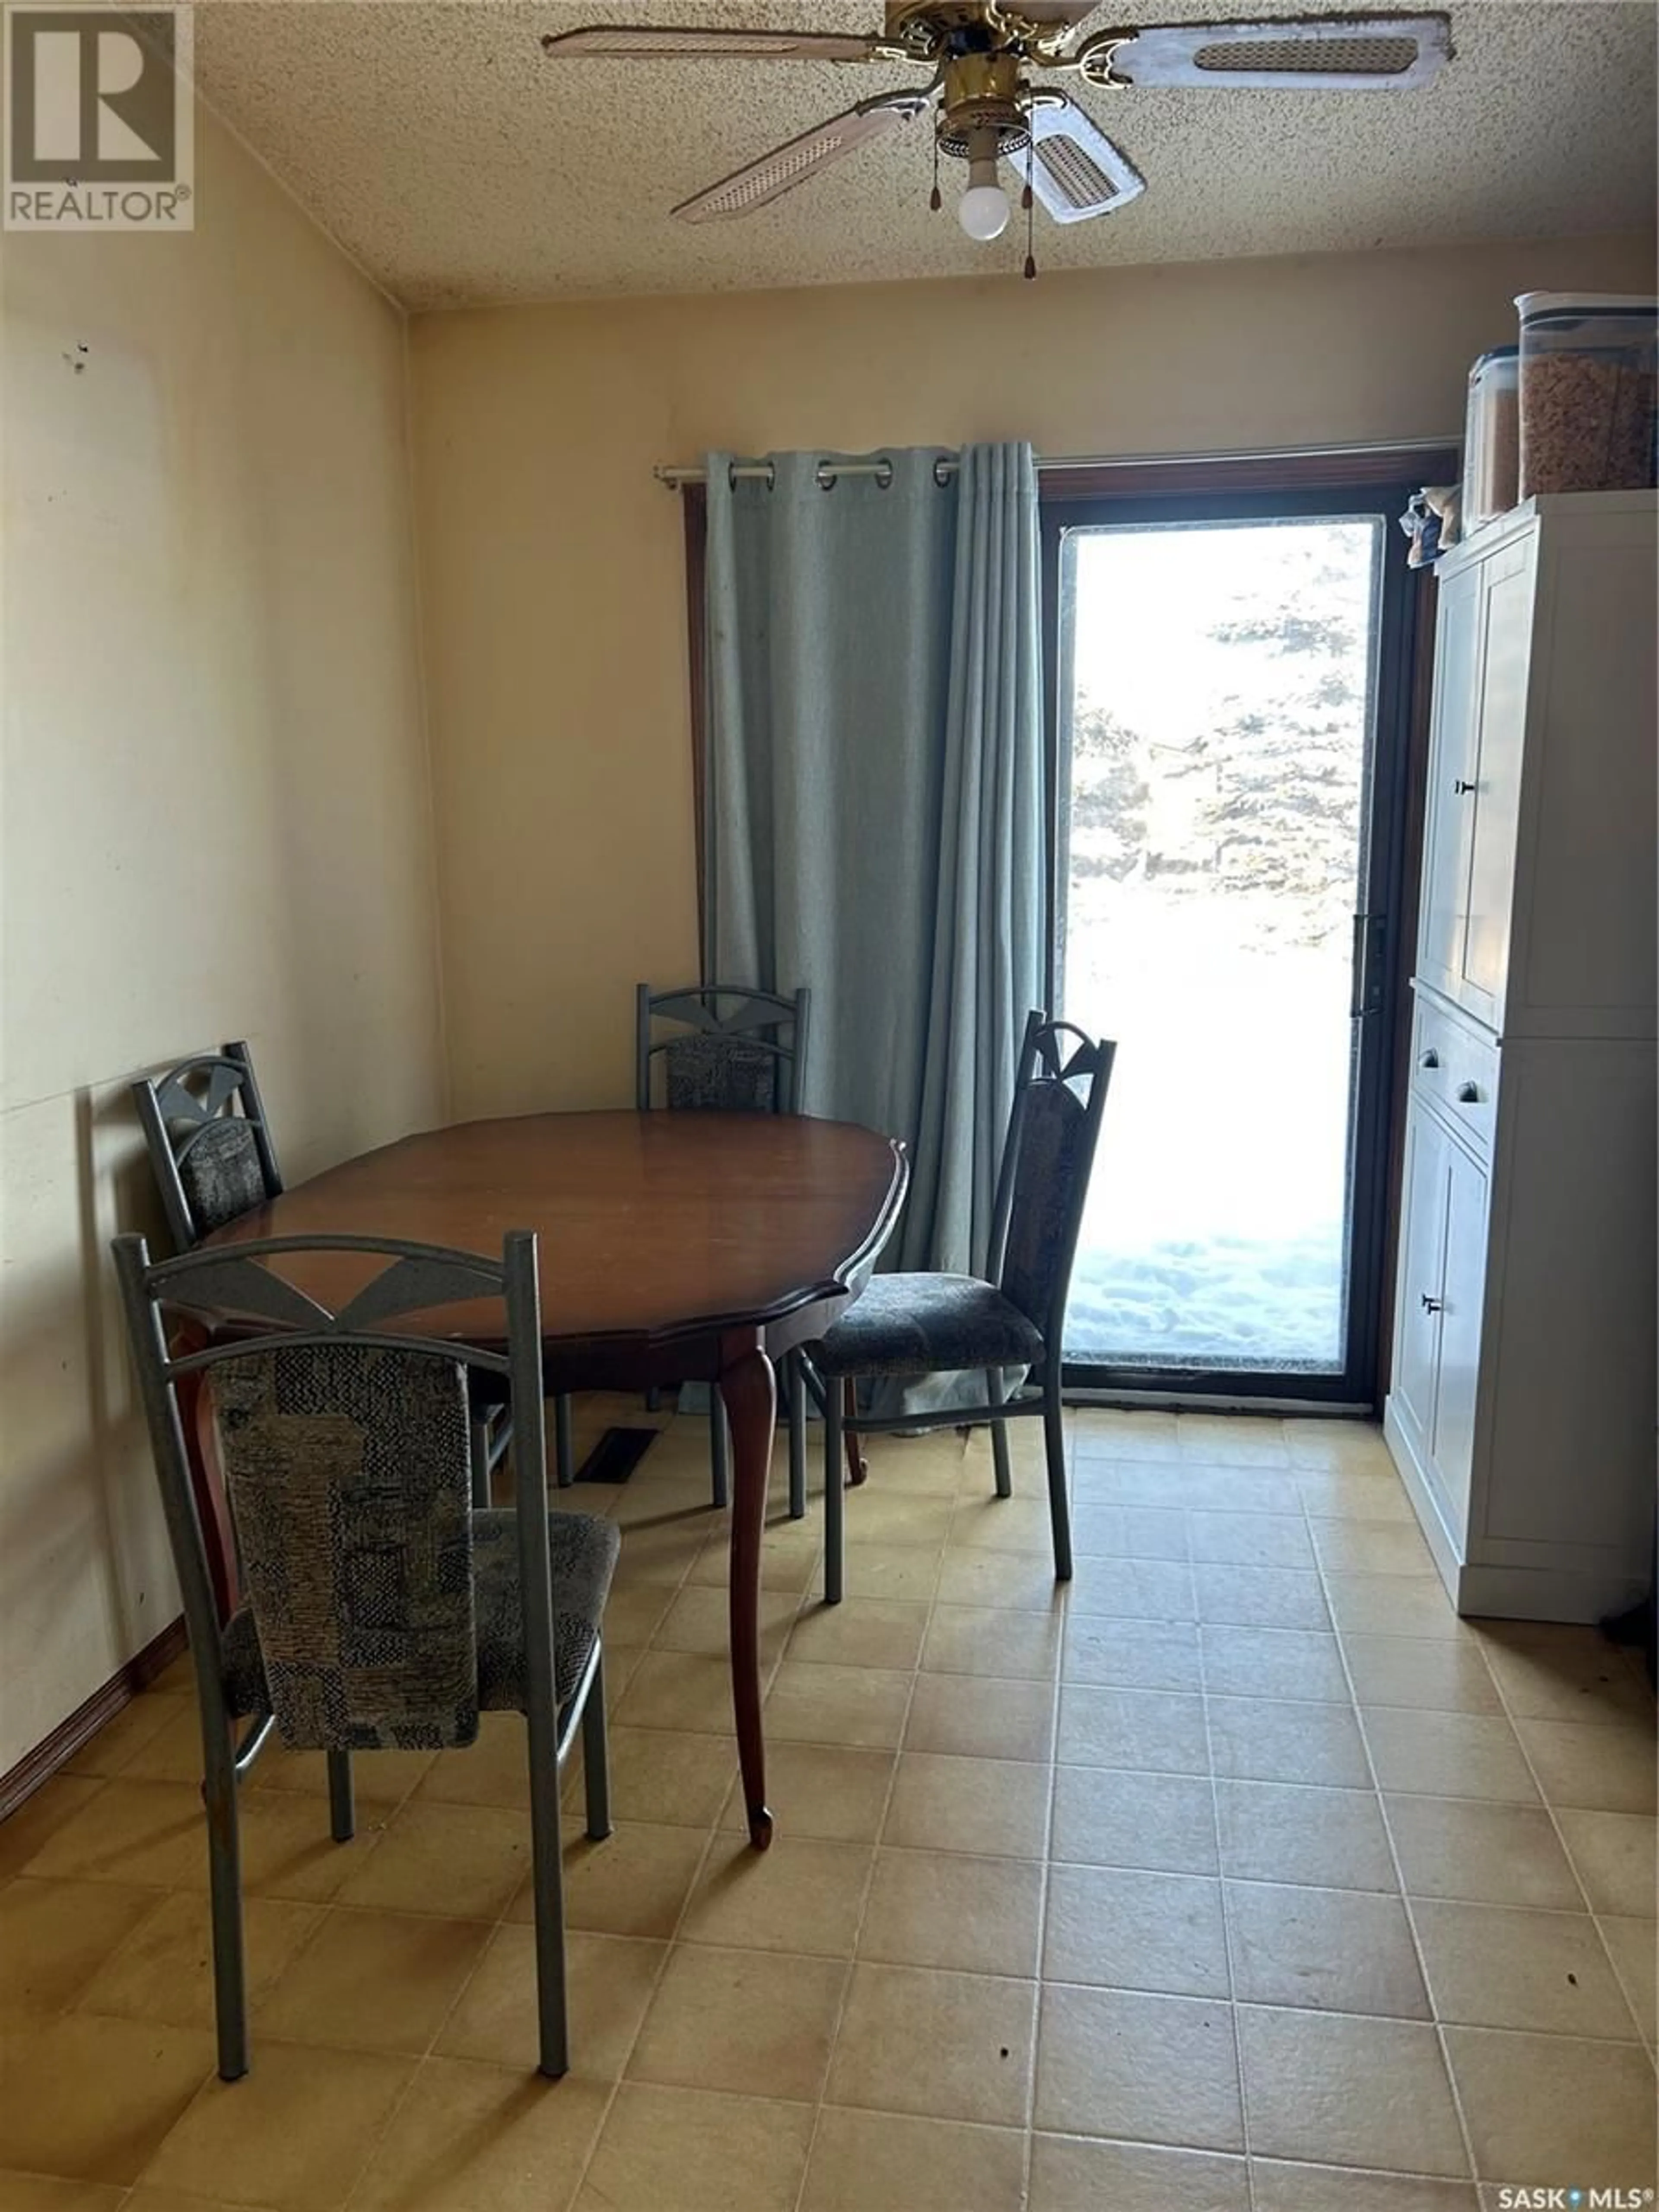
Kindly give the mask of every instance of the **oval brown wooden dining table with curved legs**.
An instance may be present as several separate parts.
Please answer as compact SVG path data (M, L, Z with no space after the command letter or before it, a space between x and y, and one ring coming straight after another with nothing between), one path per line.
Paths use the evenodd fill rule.
M750 1840L765 1849L761 1535L772 1363L823 1336L898 1221L905 1148L852 1121L754 1113L551 1113L387 1144L217 1230L358 1234L500 1254L535 1230L549 1391L712 1383L732 1429L732 1710ZM354 1254L307 1254L330 1305ZM299 1281L299 1274L294 1276ZM422 1329L491 1343L480 1303Z

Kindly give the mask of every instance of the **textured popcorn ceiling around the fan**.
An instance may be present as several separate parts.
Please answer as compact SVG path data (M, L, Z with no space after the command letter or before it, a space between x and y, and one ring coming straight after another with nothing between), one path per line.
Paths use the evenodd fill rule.
M1347 0L1356 7L1358 0ZM1175 0L1168 15L1312 13ZM834 62L564 62L580 22L874 29L878 0L206 0L210 104L411 307L597 292L1018 270L1015 221L973 246L929 215L927 124L865 146L743 221L668 208L858 97L925 82ZM1084 88L1148 179L1064 230L1044 268L1210 261L1626 228L1652 219L1655 9L1624 0L1451 9L1455 62L1420 93ZM1166 20L1128 0L1108 20ZM1053 80L1077 88L1073 77Z

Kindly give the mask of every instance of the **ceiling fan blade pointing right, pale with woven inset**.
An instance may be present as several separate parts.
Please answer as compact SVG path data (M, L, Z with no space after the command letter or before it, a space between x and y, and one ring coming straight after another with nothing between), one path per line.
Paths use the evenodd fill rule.
M1091 58L1093 64L1091 66ZM1071 58L1110 84L1217 91L1416 91L1451 60L1447 15L1281 15L1102 31Z

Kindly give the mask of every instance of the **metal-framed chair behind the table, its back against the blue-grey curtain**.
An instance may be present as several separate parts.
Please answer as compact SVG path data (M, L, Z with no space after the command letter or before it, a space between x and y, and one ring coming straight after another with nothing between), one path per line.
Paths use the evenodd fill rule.
M672 1024L657 1035L657 1024ZM807 1079L812 991L790 998L748 984L703 982L672 991L635 989L635 1104L703 1113L801 1113ZM661 1097L657 1064L661 1062ZM807 1376L787 1354L790 1520L807 1511ZM655 1398L655 1394L653 1394ZM732 1442L719 1398L708 1407L712 1495L732 1498Z

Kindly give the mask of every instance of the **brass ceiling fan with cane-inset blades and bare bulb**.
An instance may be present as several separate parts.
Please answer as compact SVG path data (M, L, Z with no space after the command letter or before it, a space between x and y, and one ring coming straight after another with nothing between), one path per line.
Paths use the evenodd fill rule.
M933 115L938 155L967 161L958 219L971 239L998 239L1009 197L998 161L1024 155L1033 195L1057 223L1110 215L1146 190L1135 164L1077 102L1033 71L1071 71L1119 93L1141 86L1219 91L1413 91L1451 60L1447 15L1298 15L1265 22L1177 22L1073 33L1097 0L885 0L880 31L721 31L679 24L588 24L542 40L557 60L619 62L907 62L929 69L920 88L876 93L759 161L684 199L688 223L726 221L770 206L867 139ZM1026 276L1035 263L1026 254Z

